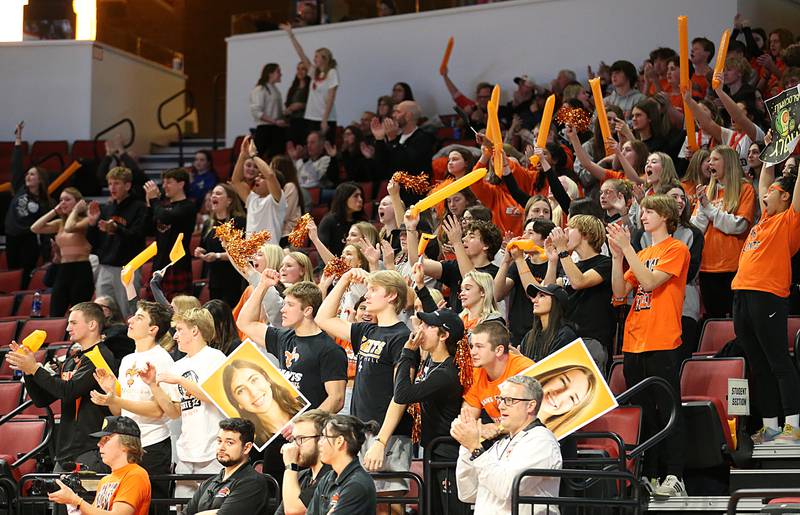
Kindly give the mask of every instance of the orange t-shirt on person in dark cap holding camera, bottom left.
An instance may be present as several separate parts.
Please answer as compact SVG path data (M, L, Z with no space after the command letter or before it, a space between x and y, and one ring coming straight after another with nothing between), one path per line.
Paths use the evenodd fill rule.
M150 511L150 476L136 463L128 463L103 477L97 484L93 506L111 511L115 502L131 506L135 515Z

